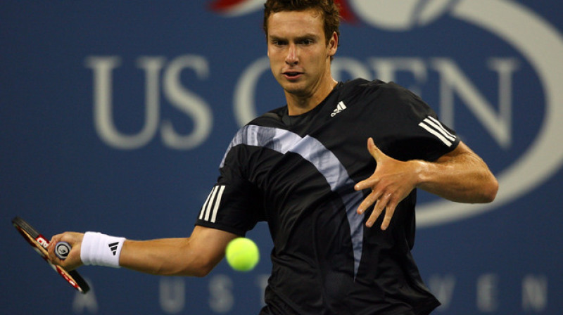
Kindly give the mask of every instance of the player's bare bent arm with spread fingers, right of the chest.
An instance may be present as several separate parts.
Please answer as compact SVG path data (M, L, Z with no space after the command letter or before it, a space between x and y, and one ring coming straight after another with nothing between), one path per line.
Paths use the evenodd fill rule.
M377 168L372 176L356 184L355 189L372 190L358 207L358 213L362 214L375 203L366 222L368 227L385 210L381 229L387 229L398 203L415 188L459 203L490 203L498 191L498 182L486 163L462 142L434 162L395 160L381 152L371 138L367 149Z

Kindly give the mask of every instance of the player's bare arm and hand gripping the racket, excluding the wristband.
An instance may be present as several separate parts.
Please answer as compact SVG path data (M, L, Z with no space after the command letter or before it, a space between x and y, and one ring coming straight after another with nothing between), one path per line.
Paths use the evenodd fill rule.
M51 244L70 243L72 250L67 259L54 255L49 246L51 262L72 270L82 265L80 249L82 233L62 233L53 236ZM155 240L125 240L119 258L120 266L147 274L163 276L205 276L224 257L234 233L196 226L189 238L160 238Z

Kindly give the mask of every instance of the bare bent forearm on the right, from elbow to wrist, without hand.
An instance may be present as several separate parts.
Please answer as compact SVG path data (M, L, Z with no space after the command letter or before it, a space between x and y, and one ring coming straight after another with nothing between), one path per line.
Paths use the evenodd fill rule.
M495 199L498 182L478 155L464 143L455 153L436 162L418 164L417 188L460 203L490 203Z

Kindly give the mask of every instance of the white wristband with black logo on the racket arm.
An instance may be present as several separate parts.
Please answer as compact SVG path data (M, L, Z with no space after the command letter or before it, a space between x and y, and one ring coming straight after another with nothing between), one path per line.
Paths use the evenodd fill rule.
M82 239L80 259L82 264L119 268L119 257L125 238L98 232L86 232Z

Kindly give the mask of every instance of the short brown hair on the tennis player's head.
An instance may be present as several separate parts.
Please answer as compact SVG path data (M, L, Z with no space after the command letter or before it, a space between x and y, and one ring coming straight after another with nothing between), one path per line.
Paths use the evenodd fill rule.
M332 33L340 37L340 11L339 6L333 0L267 0L264 4L264 32L268 34L268 18L272 13L281 11L304 11L316 9L322 14L324 24L324 37L327 44L332 37Z

